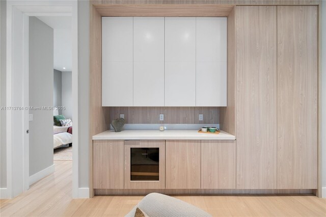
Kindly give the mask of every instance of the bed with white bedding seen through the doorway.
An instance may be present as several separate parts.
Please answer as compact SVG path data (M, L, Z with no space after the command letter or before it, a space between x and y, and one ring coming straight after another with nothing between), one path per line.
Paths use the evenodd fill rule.
M53 111L57 115L58 111ZM53 149L72 144L72 126L53 125Z

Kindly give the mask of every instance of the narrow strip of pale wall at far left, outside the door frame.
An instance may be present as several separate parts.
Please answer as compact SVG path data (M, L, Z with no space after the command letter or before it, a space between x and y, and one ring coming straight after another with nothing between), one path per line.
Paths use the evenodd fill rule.
M6 16L7 1L0 1L0 106L6 105ZM6 112L0 111L0 188L7 186Z

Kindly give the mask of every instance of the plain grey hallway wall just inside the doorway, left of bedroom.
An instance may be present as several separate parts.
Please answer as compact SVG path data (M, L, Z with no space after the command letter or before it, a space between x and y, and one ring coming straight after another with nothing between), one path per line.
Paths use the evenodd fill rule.
M53 29L30 17L30 106L53 104ZM53 165L53 112L30 111L30 176Z

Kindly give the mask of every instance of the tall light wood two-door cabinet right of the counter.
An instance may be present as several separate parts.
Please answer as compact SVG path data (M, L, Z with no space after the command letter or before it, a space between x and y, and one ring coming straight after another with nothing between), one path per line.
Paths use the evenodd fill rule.
M317 188L317 11L236 7L239 189Z

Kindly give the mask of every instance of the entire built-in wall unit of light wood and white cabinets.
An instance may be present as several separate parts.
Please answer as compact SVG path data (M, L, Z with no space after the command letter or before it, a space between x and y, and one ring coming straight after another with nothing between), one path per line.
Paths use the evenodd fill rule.
M162 17L150 17L157 11L139 6L115 7L112 13L93 10L98 31L91 31L90 134L107 130L110 118L104 117L110 112L111 118L133 116L133 124L157 123L163 113L172 124L201 123L198 114L211 112L208 118L218 116L214 121L236 140L95 139L91 188L127 189L126 194L145 188L174 193L312 193L317 188L318 6L242 5L226 15L216 12L223 9L216 5L144 6ZM198 17L207 14L201 7L212 17ZM189 17L193 14L197 17ZM135 17L123 17L129 15ZM227 20L218 17L227 15ZM184 107L194 112L182 117L178 107L133 106L216 109L200 113L198 107ZM162 150L159 172L156 167L141 174L158 180L132 180L143 173L131 171L133 147Z

